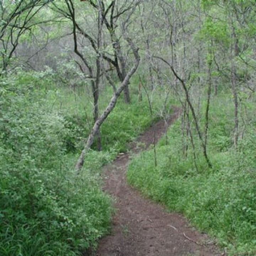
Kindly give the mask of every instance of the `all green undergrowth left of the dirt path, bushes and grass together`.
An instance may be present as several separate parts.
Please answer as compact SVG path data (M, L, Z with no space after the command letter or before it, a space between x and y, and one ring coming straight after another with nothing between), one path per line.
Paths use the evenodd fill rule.
M0 255L81 255L109 231L113 209L101 167L150 125L147 102L118 101L102 126L104 150L90 150L78 175L92 127L87 89L56 89L43 74L23 72L1 85ZM101 111L111 94L101 93Z

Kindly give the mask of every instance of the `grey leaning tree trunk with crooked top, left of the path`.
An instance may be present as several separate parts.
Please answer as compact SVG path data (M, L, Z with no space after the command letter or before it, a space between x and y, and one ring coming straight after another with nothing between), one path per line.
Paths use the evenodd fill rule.
M133 55L135 57L135 63L132 67L132 69L127 73L126 77L124 78L122 84L120 85L120 87L117 89L117 91L113 94L110 103L108 104L107 108L105 109L105 111L101 114L101 116L98 118L98 120L95 122L91 133L86 141L86 144L84 146L84 149L82 150L78 161L76 162L76 170L77 172L80 172L82 166L84 165L84 158L86 153L90 150L92 143L94 142L94 139L100 129L100 126L102 125L102 123L105 121L105 119L108 117L108 115L110 114L110 112L113 110L113 108L116 105L117 99L120 96L121 92L124 90L124 87L128 85L130 78L132 77L132 75L136 72L138 66L139 66L139 62L140 62L140 57L138 54L138 48L136 48L132 42L131 39L126 38L126 41L128 42L130 48L133 51Z

